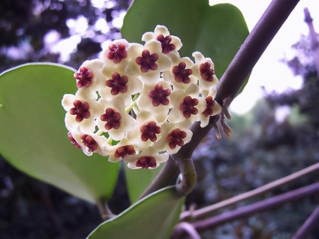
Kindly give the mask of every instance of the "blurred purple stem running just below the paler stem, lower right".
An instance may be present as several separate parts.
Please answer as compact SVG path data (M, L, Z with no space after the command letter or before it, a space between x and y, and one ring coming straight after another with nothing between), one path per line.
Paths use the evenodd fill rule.
M215 228L216 226L224 223L232 222L237 219L247 218L255 213L260 213L279 207L285 203L302 199L315 193L319 193L319 182L259 201L257 203L240 207L233 211L227 211L211 218L199 220L195 223L192 223L192 226L197 231L205 231ZM177 236L178 238L178 236L181 236L181 232L174 231L173 236Z

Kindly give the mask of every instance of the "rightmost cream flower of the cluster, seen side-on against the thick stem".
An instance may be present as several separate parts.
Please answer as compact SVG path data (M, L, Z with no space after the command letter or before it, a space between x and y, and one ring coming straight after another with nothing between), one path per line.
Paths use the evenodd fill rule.
M218 104L218 102L214 100L215 96L216 90L212 87L209 89L209 91L203 91L203 98L200 99L199 103L203 105L203 107L201 108L203 110L200 112L200 114L198 114L200 126L202 128L207 126L210 116L215 116L221 113L222 108Z

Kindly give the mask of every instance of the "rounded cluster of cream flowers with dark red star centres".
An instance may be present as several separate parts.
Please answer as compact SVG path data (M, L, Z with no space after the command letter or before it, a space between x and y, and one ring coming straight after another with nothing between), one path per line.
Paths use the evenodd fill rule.
M158 167L190 141L192 122L205 127L222 110L210 58L181 58L182 43L165 26L142 40L114 40L100 59L85 61L74 74L78 91L62 99L74 146L133 169Z

